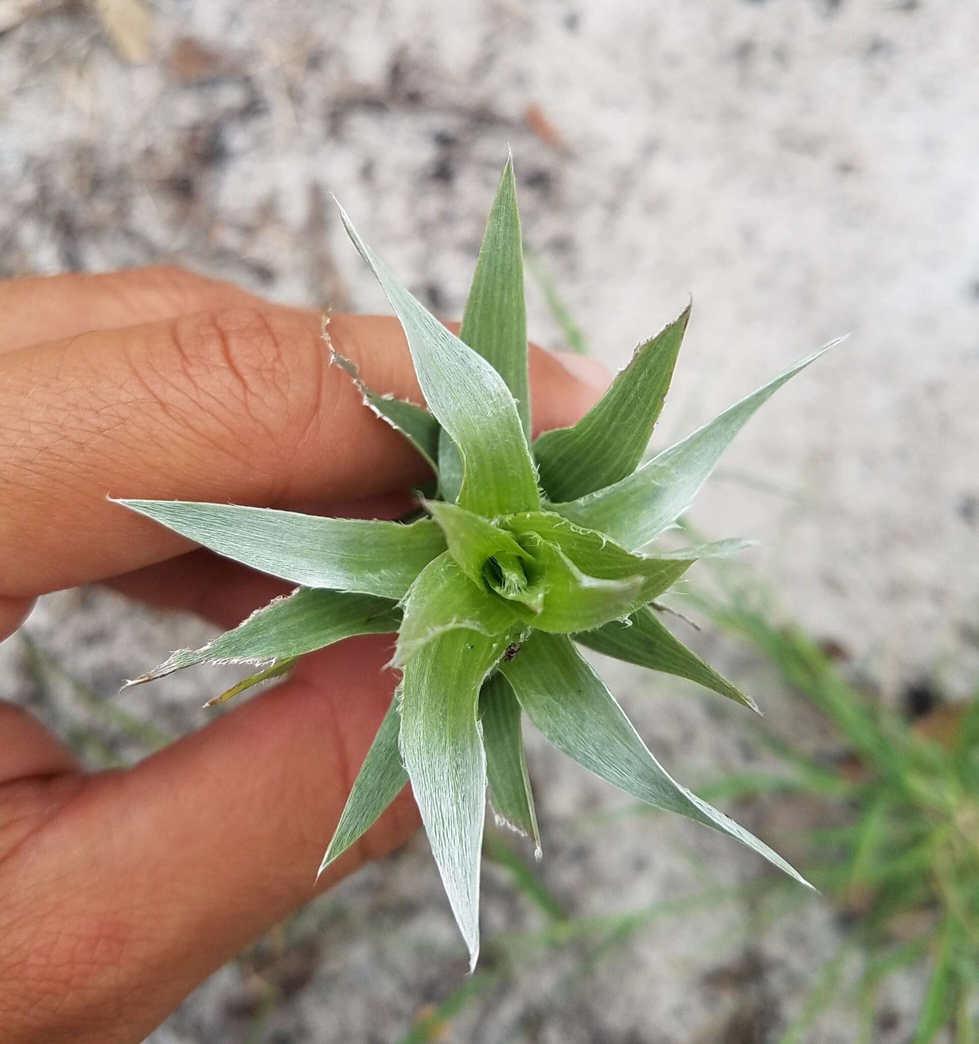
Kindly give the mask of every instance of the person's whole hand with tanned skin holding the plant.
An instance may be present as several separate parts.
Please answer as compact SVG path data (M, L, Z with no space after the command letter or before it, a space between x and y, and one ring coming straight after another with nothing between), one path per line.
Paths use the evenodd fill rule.
M281 592L106 495L391 517L424 481L328 364L314 312L145 268L0 283L0 639L38 595L78 584L222 628ZM421 402L393 319L335 315L330 331L371 386ZM573 423L605 383L533 347L530 376L538 430ZM314 886L391 696L389 646L308 656L121 772L85 773L0 702L6 1044L143 1040L249 941L408 836L406 791Z

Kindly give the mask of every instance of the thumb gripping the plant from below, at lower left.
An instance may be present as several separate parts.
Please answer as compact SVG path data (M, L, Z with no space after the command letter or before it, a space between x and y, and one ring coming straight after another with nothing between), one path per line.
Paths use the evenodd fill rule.
M304 673L137 768L88 781L0 862L0 981L44 1020L14 1040L141 1040L315 894L390 698L389 655L365 638L311 657ZM405 793L320 887L415 823ZM53 1013L44 990L58 993Z

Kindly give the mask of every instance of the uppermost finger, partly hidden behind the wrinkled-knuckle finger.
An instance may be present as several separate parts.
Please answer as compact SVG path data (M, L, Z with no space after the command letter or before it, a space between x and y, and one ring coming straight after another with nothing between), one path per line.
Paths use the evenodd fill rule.
M257 302L232 283L169 265L4 280L0 354L89 330L117 330Z

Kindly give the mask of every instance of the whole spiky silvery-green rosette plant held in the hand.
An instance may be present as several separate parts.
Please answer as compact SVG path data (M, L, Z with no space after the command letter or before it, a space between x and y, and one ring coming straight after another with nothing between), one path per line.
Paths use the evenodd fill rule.
M511 163L490 214L458 337L395 279L342 208L340 214L401 321L427 408L375 394L352 362L336 354L334 361L358 383L365 406L431 466L428 495L398 522L122 501L219 554L300 585L137 681L205 661L261 667L213 704L283 673L305 652L354 635L397 633L396 696L324 865L410 780L473 965L487 789L498 820L528 835L540 854L524 714L602 779L736 838L802 881L766 845L667 774L576 645L692 680L754 708L670 633L655 601L697 559L729 553L742 542L679 551L648 547L690 505L748 418L819 353L642 462L688 309L639 346L577 424L531 442Z

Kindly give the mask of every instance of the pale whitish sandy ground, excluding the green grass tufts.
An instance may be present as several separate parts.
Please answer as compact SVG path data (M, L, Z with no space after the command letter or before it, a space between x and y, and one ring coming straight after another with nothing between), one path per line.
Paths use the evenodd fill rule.
M712 537L759 539L753 568L785 614L842 643L888 698L923 678L952 695L971 690L979 6L160 0L153 9L143 66L124 65L85 11L0 37L0 274L171 260L284 301L382 309L325 203L333 191L422 299L457 315L508 141L526 237L596 355L623 364L693 294L659 442L853 332L765 407L692 517ZM186 35L214 52L193 75L174 57ZM531 104L557 145L528 124ZM533 289L530 329L559 343ZM93 593L44 600L29 627L102 692L204 634ZM755 680L730 642L700 641L753 682L778 728L812 741L795 705ZM35 702L16 642L0 664L4 689ZM716 699L623 667L606 675L682 779L758 764ZM188 729L204 722L200 697L224 677L168 679L120 698ZM544 874L576 912L663 901L701 886L701 872L730 883L760 869L684 824L577 828L582 807L622 801L531 745ZM777 812L767 805L747 825L764 830ZM780 836L790 834L783 823ZM486 878L487 932L535 923L501 875ZM450 1039L775 1040L843 936L818 903L773 927L753 927L750 916L730 904L664 921L557 1000L534 999L559 972L534 962L522 989L473 1006ZM267 1041L398 1040L462 975L422 838L310 917L327 926L312 981L273 1016ZM706 974L745 955L757 974ZM896 1021L875 1040L907 1039L920 990L911 976L884 996ZM243 1023L229 1005L240 991L238 971L225 969L153 1044L237 1044ZM851 1020L830 1017L810 1039L857 1038Z

